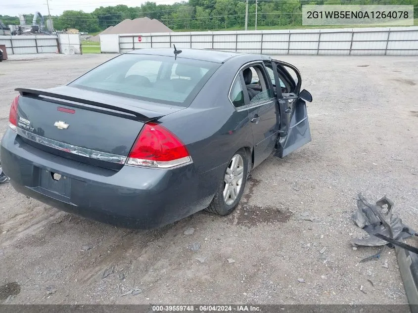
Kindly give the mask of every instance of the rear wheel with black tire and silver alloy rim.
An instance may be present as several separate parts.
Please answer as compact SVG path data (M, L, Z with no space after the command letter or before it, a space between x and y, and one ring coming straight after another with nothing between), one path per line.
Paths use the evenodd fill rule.
M233 161L236 161L236 163L238 164L236 168L233 168L234 164L236 164L233 163ZM227 176L227 171L229 173L229 176ZM239 172L238 175L236 174L236 171ZM213 197L213 200L210 203L209 207L206 208L206 211L218 215L228 215L232 213L232 211L236 208L239 201L241 200L242 194L244 193L245 182L247 180L247 173L247 153L244 149L240 149L234 153L230 162L228 163L227 168L224 171L224 175L218 182L218 188L216 190L215 196ZM242 177L240 176L241 174ZM227 185L227 179L228 181L230 181L230 187L228 188L228 190L225 189ZM226 197L224 197L224 190L226 191L225 196L228 195L227 200L225 200ZM236 191L238 191L237 195Z

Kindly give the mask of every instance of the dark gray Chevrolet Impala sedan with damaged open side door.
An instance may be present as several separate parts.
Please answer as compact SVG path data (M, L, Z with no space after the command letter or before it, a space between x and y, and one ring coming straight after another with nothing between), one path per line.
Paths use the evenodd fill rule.
M65 86L16 89L1 166L17 191L104 223L227 215L253 168L311 140L301 82L265 55L134 50Z

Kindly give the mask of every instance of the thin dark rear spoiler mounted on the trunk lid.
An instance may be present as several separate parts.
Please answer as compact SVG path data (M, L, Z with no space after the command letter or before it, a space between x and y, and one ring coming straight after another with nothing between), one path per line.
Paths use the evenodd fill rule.
M67 94L63 94L63 93L49 91L49 90L46 90L46 89L16 88L14 90L19 91L19 93L21 95L28 95L28 96L35 96L35 97L40 96L40 95L44 95L44 96L51 97L51 98L73 101L73 102L78 102L78 103L83 103L83 104L88 104L88 105L91 105L91 106L104 108L104 109L124 112L124 113L127 113L127 114L134 115L135 116L134 120L138 120L138 121L144 122L144 123L155 120L155 119L158 119L158 118L161 117L161 116L149 116L149 117L145 116L145 115L143 115L143 114L141 114L141 113L139 113L135 110L127 108L126 105L117 106L117 105L113 105L113 104L109 104L109 103L96 102L96 101L89 100L89 99L84 99L84 98L74 97L74 96L70 96L70 95L67 95ZM68 105L72 106L71 104L68 104Z

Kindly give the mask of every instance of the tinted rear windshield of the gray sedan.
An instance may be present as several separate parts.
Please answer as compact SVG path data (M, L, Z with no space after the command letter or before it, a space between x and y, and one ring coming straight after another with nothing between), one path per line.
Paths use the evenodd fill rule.
M174 56L123 54L69 86L147 101L188 106L218 63Z

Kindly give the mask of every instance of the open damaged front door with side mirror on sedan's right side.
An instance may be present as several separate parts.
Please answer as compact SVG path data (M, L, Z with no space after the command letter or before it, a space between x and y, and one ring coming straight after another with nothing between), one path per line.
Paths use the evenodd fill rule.
M293 76L288 69L294 72ZM293 65L273 60L273 71L280 112L280 133L275 156L283 158L311 141L308 112L304 100L311 102L312 96L305 89L300 91L301 76Z

